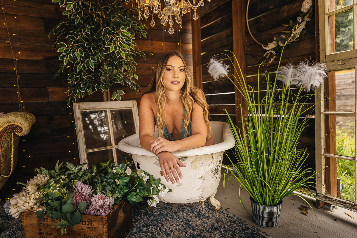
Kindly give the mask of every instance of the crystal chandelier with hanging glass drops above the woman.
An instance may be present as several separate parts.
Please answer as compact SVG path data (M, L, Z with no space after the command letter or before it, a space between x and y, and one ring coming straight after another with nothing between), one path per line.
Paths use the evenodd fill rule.
M151 16L151 22L150 25L152 27L155 26L155 21L154 21L154 14L157 14L159 19L161 19L160 23L164 26L166 26L167 23L169 23L170 28L169 28L169 33L173 34L175 31L172 28L172 25L174 25L174 20L172 20L172 17L175 18L175 21L177 24L180 25L180 28L182 28L182 16L183 14L186 14L187 12L191 11L191 8L194 10L194 14L192 16L193 20L198 19L198 14L196 12L197 7L203 6L203 0L197 0L198 3L195 5L195 0L192 0L192 3L190 0L136 0L137 6L138 6L138 11L139 11L139 20L140 20L140 10L144 11L144 17L145 19L148 19ZM209 2L211 0L208 0ZM162 2L162 4L161 4ZM161 5L163 5L164 9L161 9ZM144 10L145 9L145 10ZM151 12L151 13L150 13Z

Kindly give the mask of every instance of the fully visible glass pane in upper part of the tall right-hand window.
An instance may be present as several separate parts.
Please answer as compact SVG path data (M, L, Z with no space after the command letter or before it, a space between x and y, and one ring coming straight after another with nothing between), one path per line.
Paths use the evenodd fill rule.
M353 50L353 10L337 13L328 17L329 52Z

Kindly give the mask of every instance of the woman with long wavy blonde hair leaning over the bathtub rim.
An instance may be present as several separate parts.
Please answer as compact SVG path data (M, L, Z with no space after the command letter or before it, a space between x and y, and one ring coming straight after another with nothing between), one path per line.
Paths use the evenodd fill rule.
M154 138L154 127L159 137ZM161 172L167 182L180 182L185 167L171 152L214 144L208 121L208 106L202 90L193 85L183 55L167 52L157 64L140 101L140 145L159 157Z

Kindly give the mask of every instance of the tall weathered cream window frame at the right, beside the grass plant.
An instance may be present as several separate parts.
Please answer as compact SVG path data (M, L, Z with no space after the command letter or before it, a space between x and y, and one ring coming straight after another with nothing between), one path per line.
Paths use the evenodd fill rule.
M355 68L355 110L352 112L329 111L325 110L325 86L315 89L315 102L318 106L315 108L315 144L316 144L316 199L345 207L351 210L357 210L357 189L355 191L355 202L331 196L325 188L326 180L332 175L326 177L326 159L340 158L355 161L355 188L357 188L357 140L355 140L355 157L341 156L325 152L325 139L329 136L330 131L325 129L325 115L352 115L355 116L355 135L357 135L357 0L353 0L351 6L342 7L341 9L328 11L329 0L318 0L318 14L320 27L320 61L325 62L328 71L338 71ZM353 50L342 51L337 53L328 53L329 51L329 23L328 17L339 12L353 9ZM327 79L328 80L328 79ZM328 82L327 82L328 83ZM330 177L329 177L330 176Z

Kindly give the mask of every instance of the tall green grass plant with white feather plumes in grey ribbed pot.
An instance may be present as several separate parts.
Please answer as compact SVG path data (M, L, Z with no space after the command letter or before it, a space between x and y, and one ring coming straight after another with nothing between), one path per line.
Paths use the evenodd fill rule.
M229 58L227 54L221 55ZM232 58L236 60L234 55ZM225 174L231 174L250 194L254 222L273 228L278 225L282 199L291 194L301 197L294 191L314 184L311 181L315 181L316 171L304 167L308 152L299 147L299 138L315 108L306 103L311 97L306 92L321 85L327 68L311 60L298 66L280 67L279 62L273 80L270 73L266 75L267 88L262 92L259 86L256 92L247 85L243 76L236 78L235 84L230 77L235 76L228 69L229 65L215 58L208 64L208 72L214 79L227 77L237 87L247 108L247 115L241 113L241 128L228 116L236 145L232 149L234 158L228 156L233 169ZM240 68L234 70L242 75ZM282 86L278 86L279 80L283 81ZM242 112L242 105L237 110ZM240 192L238 196L242 204Z

